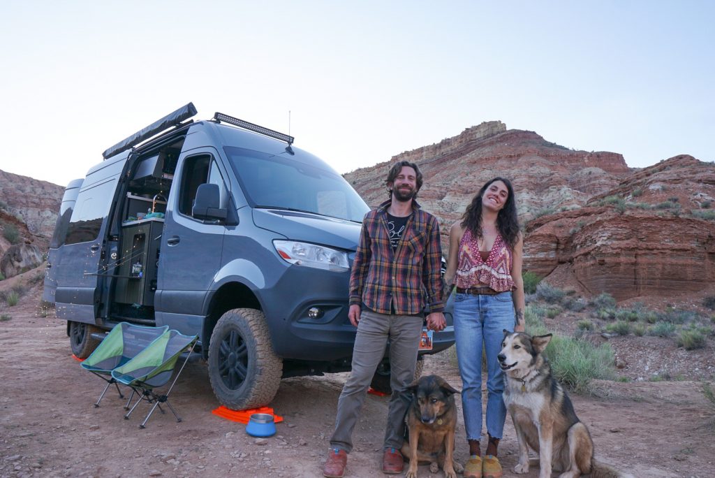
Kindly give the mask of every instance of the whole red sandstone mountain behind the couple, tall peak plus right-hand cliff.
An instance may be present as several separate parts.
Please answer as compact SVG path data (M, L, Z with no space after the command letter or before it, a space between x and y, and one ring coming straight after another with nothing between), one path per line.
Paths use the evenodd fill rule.
M447 234L479 187L501 175L526 223L524 268L553 285L618 300L715 290L715 166L681 155L631 170L621 155L569 150L483 123L345 179L371 206L393 162L420 166L418 200ZM712 209L710 209L712 208Z

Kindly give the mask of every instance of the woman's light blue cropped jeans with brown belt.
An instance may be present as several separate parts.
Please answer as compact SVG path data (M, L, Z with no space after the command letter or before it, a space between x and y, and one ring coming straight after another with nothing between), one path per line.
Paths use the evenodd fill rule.
M504 376L496 358L504 329L514 330L511 292L494 296L458 293L454 302L454 333L457 361L462 376L462 411L468 440L482 434L482 343L487 358L487 431L501 438L506 421L502 399Z

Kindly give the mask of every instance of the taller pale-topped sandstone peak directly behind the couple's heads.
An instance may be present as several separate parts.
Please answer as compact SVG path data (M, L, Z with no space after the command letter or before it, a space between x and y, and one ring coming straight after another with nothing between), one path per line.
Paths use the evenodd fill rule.
M345 179L374 207L388 199L385 177L390 165L400 160L415 162L422 170L425 185L418 201L440 219L443 235L492 177L513 182L519 217L526 221L544 211L578 208L593 195L616 187L631 172L617 153L569 150L535 132L506 130L502 122L493 121L349 172Z

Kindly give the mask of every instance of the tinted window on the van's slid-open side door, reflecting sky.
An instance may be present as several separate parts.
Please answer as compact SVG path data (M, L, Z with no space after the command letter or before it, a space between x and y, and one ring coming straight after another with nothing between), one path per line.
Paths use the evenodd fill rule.
M84 243L97 239L114 199L116 188L117 180L114 179L79 192L67 228L65 244Z

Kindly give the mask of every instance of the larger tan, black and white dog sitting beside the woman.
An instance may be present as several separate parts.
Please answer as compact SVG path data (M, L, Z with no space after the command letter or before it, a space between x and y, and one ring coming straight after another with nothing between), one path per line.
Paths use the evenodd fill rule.
M504 403L519 442L514 472L529 471L528 445L539 454L539 478L551 478L552 468L562 472L559 478L589 473L592 478L631 477L593 458L591 434L543 356L549 341L551 333L532 337L505 330L497 357L506 376Z

